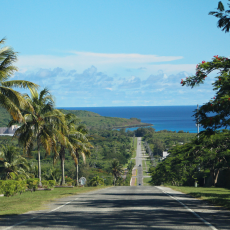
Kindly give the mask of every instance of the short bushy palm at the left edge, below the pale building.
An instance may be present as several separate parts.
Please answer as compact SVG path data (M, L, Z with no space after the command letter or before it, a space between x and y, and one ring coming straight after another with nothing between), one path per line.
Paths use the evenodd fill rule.
M13 145L1 146L0 152L0 178L13 179L22 175L28 176L29 164L19 154L19 149Z

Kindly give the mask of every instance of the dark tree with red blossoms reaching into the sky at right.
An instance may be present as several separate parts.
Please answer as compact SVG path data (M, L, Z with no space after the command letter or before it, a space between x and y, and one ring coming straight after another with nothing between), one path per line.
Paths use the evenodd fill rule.
M194 87L204 83L206 77L213 71L219 71L213 85L216 95L202 105L194 114L196 120L212 134L217 129L230 125L230 59L214 56L212 61L202 61L196 67L196 75L181 80L182 86Z

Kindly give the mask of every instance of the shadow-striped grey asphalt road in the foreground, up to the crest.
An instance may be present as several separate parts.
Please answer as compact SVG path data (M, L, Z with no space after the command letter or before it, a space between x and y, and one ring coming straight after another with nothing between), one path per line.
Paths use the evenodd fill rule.
M210 213L199 200L178 192L168 195L162 188L150 186L111 187L64 198L44 211L1 217L0 229L216 229L194 215L194 209L219 224L218 229L229 229L223 215L215 222L214 211Z

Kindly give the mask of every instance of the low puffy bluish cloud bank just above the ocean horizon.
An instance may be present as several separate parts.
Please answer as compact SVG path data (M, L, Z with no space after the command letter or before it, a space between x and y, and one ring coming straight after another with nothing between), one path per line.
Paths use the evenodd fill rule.
M36 71L16 73L14 79L33 81L47 87L56 98L58 107L135 106L135 105L194 105L209 100L212 79L196 89L182 87L180 80L189 75L185 71L139 77L131 72L127 76L107 74L91 66L82 72L40 68Z

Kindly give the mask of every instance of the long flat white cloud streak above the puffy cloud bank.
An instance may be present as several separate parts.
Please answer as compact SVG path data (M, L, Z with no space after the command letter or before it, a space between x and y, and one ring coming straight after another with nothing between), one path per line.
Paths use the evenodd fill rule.
M22 55L19 56L17 65L20 69L55 68L57 66L65 69L77 68L80 71L89 66L97 66L100 69L108 69L119 66L126 69L146 69L146 65L157 62L169 62L182 59L182 56L157 56L143 54L105 54L72 51L66 56L52 55ZM139 65L139 66L138 66Z

